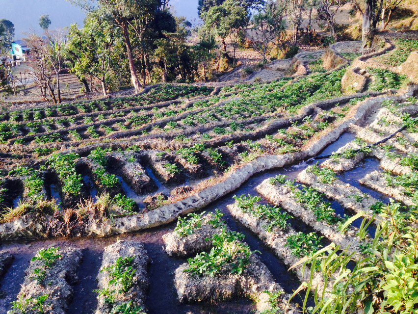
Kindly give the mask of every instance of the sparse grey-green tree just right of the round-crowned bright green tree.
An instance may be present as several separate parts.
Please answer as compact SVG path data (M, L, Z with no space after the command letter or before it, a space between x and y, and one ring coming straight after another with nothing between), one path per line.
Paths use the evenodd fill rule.
M262 55L263 63L272 43L276 41L285 30L285 7L278 2L270 0L262 11L253 17L253 35L251 39L255 51Z

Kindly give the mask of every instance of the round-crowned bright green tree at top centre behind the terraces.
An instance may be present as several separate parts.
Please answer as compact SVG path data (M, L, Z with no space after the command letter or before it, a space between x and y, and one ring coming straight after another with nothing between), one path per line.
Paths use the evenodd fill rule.
M239 1L226 0L222 5L211 7L205 14L205 26L213 29L220 37L223 45L223 54L229 62L235 62L236 43L242 38L242 33L250 21L248 7L237 5ZM234 47L234 57L228 54L225 39L230 37Z

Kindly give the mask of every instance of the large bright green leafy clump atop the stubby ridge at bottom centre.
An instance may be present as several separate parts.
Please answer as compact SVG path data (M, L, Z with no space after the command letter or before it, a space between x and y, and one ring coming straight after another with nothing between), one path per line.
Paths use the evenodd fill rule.
M210 277L226 271L242 274L253 254L249 246L241 242L243 239L244 235L223 229L221 234L213 235L210 252L202 252L188 259L189 266L184 271L195 276Z

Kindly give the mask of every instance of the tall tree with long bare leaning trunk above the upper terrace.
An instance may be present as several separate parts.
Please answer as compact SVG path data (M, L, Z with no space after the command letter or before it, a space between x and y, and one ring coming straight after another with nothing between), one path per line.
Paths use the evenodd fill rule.
M132 84L135 93L139 93L142 85L137 75L129 27L131 26L137 34L143 33L150 21L154 19L161 2L157 0L99 0L99 3L104 12L111 16L115 24L122 30Z

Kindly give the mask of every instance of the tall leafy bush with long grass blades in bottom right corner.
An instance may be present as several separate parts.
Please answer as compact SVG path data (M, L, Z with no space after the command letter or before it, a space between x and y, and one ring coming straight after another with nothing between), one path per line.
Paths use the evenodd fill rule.
M383 219L377 220L375 235L364 246L364 255L331 245L324 248L326 254L319 251L303 262L317 265L332 284L326 288L329 297L315 297L315 306L304 306L304 313L355 313L359 307L366 314L417 313L417 216L415 212L403 213L400 208L391 203L381 209L379 216ZM366 216L360 233L366 233L369 225L370 218ZM308 281L303 288L312 285ZM323 292L317 291L318 295Z

